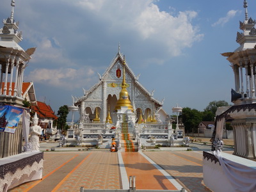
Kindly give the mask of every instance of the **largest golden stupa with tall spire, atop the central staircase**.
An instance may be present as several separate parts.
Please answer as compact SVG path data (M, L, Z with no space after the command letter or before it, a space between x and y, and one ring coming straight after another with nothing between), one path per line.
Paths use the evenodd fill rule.
M124 62L123 62L123 81L122 81L122 90L119 93L119 99L116 102L116 107L115 107L115 111L117 111L118 109L121 109L121 107L127 107L128 109L130 109L133 112L133 108L131 105L131 100L129 100L129 93L127 91L127 85L125 82L125 57L124 57Z

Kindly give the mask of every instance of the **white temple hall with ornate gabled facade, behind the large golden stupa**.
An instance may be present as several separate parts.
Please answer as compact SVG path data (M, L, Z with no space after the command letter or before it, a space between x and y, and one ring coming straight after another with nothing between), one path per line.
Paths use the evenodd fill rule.
M154 99L154 91L148 92L138 81L139 76L135 76L131 68L127 64L122 65L122 63L124 63L124 56L120 53L119 48L106 72L102 76L99 75L99 82L90 90L84 90L83 97L76 100L75 106L79 107L80 120L83 122L86 114L88 114L90 122L92 122L97 109L101 123L108 121L108 111L112 122L116 122L116 116L113 112L115 112L116 102L122 89L122 73L123 67L125 67L125 81L129 92L129 100L131 100L133 111L136 111L137 119L142 111L145 122L151 122L150 119L153 116L155 116L157 122L165 122L167 114L162 108L163 101L160 102Z

